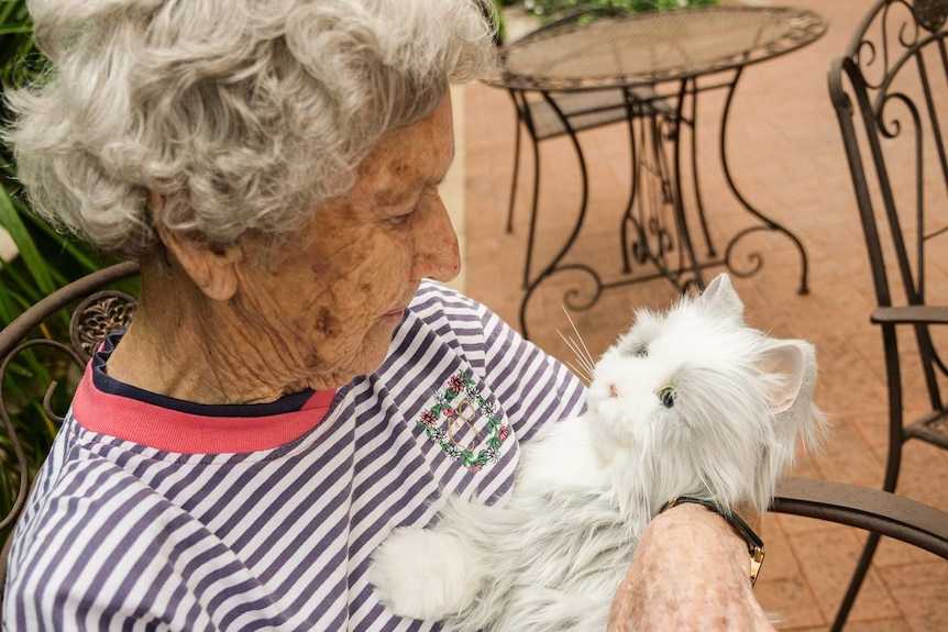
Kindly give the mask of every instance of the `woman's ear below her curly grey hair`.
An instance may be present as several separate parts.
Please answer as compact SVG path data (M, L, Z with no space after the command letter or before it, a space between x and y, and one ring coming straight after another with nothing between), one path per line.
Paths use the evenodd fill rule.
M163 207L164 199L150 192L148 208L152 210L152 214L161 214ZM221 250L212 250L184 233L172 232L161 225L156 230L168 253L208 298L225 301L236 293L236 265L242 259L243 254L240 246L232 245Z

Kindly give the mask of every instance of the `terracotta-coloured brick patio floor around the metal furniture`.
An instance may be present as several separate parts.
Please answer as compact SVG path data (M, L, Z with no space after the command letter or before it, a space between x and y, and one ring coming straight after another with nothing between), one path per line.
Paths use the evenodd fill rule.
M750 2L748 2L750 3ZM765 2L754 2L757 4ZM794 231L809 256L809 293L796 292L800 259L790 242L765 237L763 269L735 279L748 321L780 337L803 337L819 353L817 402L829 413L833 433L825 450L806 458L795 474L878 487L886 445L885 384L881 337L869 323L873 308L868 260L839 130L826 88L826 69L840 54L870 0L792 0L830 22L815 44L745 73L731 111L727 145L731 173L743 195L761 211ZM514 234L504 232L512 168L514 110L509 97L481 85L464 90L464 287L510 323L522 297L527 210L532 162L523 151ZM703 107L710 110L713 99ZM618 273L618 218L628 189L628 146L620 126L581 135L589 162L591 218L577 256ZM714 158L704 145L701 159ZM576 164L565 140L541 145L541 213L549 260L567 233L578 203ZM728 202L724 180L705 177L709 213L724 233L741 214ZM736 225L736 224L735 224ZM715 274L712 270L710 276ZM569 275L567 275L569 276ZM571 279L582 288L582 277ZM566 286L563 286L566 287ZM629 323L631 309L660 307L675 292L651 281L604 293L588 311L572 312L594 355ZM531 301L532 339L558 357L572 354L556 331L569 324L560 304L563 289L551 284ZM948 510L948 452L913 442L905 447L899 491ZM786 515L763 525L768 558L757 594L778 613L782 630L828 629L864 535L847 528ZM948 630L948 562L884 541L847 630Z

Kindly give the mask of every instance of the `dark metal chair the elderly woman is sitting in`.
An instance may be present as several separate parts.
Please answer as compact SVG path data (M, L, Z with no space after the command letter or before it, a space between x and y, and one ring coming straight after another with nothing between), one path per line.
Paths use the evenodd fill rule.
M3 420L2 434L5 434L2 439L12 444L16 455L14 466L9 463L9 454L0 452L0 466L4 469L13 467L19 476L15 500L9 507L0 509L4 514L0 520L0 529L12 532L26 502L30 484L35 474L29 467L23 446L18 439L23 428L14 426L10 415L11 401L4 397L5 392L13 391L16 386L8 382L8 377L13 377L8 376L8 373L11 373L8 370L11 362L40 347L47 347L54 354L44 358L44 366L57 366L59 370L55 373L62 374L65 358L66 364L75 364L76 368L81 368L109 332L126 325L132 319L135 299L108 288L136 274L137 266L131 263L99 270L49 295L0 332L0 380L8 387L5 390L0 389L0 417ZM77 306L69 326L70 344L51 340L45 323L70 306ZM44 389L45 395L42 396L45 415L53 422L60 419L49 406L56 389L57 386L53 382ZM773 510L872 530L948 559L948 514L878 489L790 478L781 484ZM8 536L0 556L0 599L5 586L10 541L11 537Z

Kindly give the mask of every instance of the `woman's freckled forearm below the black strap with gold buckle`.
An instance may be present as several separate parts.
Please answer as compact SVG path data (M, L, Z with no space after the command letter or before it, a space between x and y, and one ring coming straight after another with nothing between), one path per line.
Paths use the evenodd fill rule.
M681 505L652 520L609 613L609 632L773 631L752 592L747 545L724 518Z

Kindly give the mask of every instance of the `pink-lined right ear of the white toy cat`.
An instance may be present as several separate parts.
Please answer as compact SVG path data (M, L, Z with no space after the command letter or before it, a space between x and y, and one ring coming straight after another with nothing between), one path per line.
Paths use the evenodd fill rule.
M758 368L773 378L770 408L774 414L786 412L800 399L809 397L816 379L816 353L800 340L778 341L758 359Z

